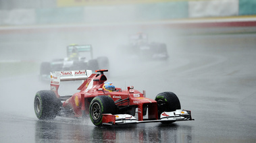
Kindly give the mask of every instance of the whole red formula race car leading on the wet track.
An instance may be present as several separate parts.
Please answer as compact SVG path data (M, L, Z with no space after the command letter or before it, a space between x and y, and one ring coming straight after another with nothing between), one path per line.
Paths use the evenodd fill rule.
M180 101L172 92L159 93L155 100L145 97L134 87L126 90L106 82L107 70L59 71L51 73L51 90L39 91L34 97L34 111L39 120L58 116L90 116L95 126L138 124L145 122L172 123L193 120L190 111L180 109ZM80 92L70 96L58 93L61 81L84 80Z

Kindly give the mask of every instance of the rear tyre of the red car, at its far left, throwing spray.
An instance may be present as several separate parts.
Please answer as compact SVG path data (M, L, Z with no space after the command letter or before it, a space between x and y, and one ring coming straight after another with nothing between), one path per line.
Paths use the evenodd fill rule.
M60 110L61 101L50 90L38 91L34 97L34 113L39 120L54 119Z

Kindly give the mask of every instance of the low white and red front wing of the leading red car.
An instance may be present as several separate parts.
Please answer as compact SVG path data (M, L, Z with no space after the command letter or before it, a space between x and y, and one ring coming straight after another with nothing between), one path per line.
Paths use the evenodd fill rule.
M161 113L159 120L143 120L138 121L136 117L129 114L112 115L110 113L103 114L103 125L122 125L122 124L139 124L148 122L176 122L194 120L191 117L191 111L177 109L176 111L164 111Z

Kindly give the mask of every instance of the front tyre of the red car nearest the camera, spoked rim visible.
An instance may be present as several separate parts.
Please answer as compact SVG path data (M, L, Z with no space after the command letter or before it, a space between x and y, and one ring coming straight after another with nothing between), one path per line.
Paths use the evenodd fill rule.
M90 118L95 126L102 126L103 113L116 114L116 105L109 96L97 96L91 101Z

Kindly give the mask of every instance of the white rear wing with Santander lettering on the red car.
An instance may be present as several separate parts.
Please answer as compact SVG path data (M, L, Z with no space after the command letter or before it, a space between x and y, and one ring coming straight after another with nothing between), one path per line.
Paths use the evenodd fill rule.
M82 81L92 75L92 70L67 70L51 72L51 85L59 85L61 81Z

